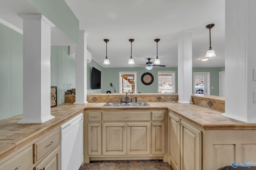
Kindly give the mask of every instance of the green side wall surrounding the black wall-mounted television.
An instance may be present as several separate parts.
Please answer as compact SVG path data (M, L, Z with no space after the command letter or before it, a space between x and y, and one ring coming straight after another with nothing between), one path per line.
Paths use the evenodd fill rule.
M92 90L92 67L101 71L100 89ZM104 87L104 84L106 84L106 83L104 82L104 79L103 79L103 77L104 77L103 70L104 70L104 68L102 66L100 66L100 64L98 64L96 61L94 61L94 59L92 59L91 63L87 63L87 93L89 93L89 94L104 93L103 87Z

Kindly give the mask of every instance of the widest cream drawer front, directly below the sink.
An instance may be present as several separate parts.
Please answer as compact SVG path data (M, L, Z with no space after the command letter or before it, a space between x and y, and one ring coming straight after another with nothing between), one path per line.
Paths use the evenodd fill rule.
M103 121L150 121L151 111L102 112Z

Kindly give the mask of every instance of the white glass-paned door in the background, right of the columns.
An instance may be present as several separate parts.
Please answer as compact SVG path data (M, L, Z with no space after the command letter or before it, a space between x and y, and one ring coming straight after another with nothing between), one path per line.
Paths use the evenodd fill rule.
M210 73L207 72L193 72L194 94L210 94L210 89L208 87L208 84L210 84L208 83L210 80L209 74Z

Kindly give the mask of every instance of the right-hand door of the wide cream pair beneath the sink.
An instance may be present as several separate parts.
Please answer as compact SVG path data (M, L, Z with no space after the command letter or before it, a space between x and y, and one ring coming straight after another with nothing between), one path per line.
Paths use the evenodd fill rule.
M127 154L150 154L150 122L127 123Z

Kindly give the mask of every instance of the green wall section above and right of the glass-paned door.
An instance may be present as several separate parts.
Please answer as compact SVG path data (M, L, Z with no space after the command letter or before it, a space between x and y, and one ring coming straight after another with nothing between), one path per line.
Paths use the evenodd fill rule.
M193 67L192 72L210 72L210 95L219 96L219 71L223 69L225 67Z

